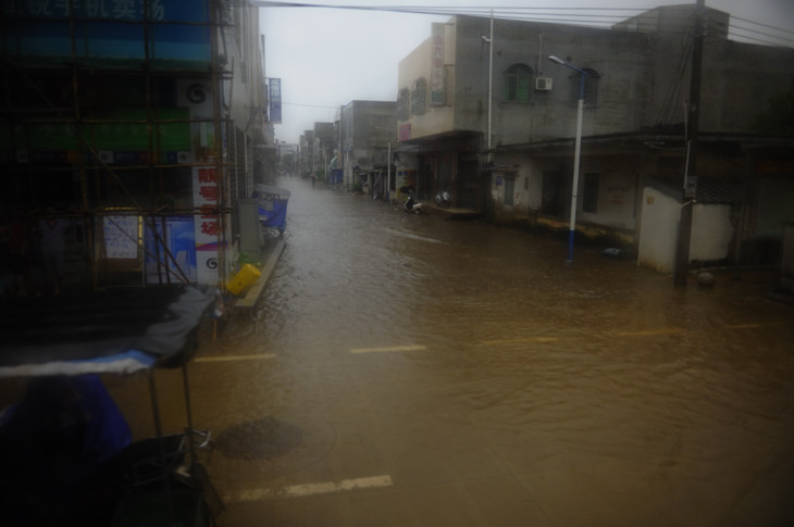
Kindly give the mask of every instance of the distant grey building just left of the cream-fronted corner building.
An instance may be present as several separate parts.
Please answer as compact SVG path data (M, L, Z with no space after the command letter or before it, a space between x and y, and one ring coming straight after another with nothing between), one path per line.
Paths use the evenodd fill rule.
M394 191L394 112L390 101L350 101L342 108L339 143L348 189L361 188L379 199L388 199Z

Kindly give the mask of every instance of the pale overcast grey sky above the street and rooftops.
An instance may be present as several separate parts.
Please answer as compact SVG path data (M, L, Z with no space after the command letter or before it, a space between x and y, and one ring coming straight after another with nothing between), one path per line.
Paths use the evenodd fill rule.
M415 0L296 0L313 5L420 5ZM620 16L615 8L653 9L695 3L695 0L433 0L423 9L472 9L508 5L548 8L561 22L595 15ZM559 8L582 10L559 11ZM794 47L794 0L706 0L706 7L731 13L732 37L745 35L755 43L777 40ZM596 10L586 10L596 8ZM282 122L276 139L297 142L315 122L333 122L340 105L352 100L394 101L397 67L408 53L430 37L431 23L454 13L427 15L335 8L260 8L265 40L265 76L282 79ZM532 14L537 12L532 11ZM581 14L580 14L581 13ZM626 12L626 16L636 14ZM530 16L525 14L523 16ZM601 18L608 20L608 18ZM569 22L572 23L572 22ZM579 22L578 22L579 23ZM735 26L735 27L734 27ZM779 29L783 29L781 33Z

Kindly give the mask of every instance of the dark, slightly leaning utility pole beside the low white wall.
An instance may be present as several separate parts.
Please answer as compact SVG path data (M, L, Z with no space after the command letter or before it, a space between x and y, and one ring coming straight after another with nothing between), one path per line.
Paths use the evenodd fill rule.
M695 206L697 186L697 131L700 118L700 79L703 70L703 38L706 0L695 1L695 34L692 43L692 74L690 103L686 120L686 171L684 172L683 200L679 218L679 239L675 250L673 284L686 286L692 241L692 209Z

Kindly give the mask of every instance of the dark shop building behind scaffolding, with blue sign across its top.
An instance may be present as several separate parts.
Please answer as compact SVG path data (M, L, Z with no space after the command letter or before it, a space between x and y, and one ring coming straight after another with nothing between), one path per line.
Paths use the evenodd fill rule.
M3 4L0 199L30 243L32 222L69 224L73 286L235 271L233 204L274 170L258 21L246 1Z

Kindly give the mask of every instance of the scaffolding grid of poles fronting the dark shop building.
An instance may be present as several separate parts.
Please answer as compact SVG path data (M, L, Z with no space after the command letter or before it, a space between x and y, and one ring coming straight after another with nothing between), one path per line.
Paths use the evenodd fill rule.
M107 18L87 16L88 13L80 11L80 4L74 1L67 2L67 14L55 21L55 24L69 27L69 57L61 51L61 60L27 60L24 53L17 53L20 47L24 45L20 42L26 37L20 32L0 41L2 46L0 60L3 65L0 87L3 96L0 100L0 154L4 154L0 155L0 168L5 179L3 193L7 197L7 204L13 204L27 222L32 222L54 214L45 209L48 201L52 200L51 195L47 196L47 192L41 191L48 181L57 181L59 189L71 190L71 196L59 197L61 198L58 200L59 204L65 205L62 209L67 210L59 211L58 216L70 217L82 225L82 265L87 267L86 274L90 276L89 280L83 280L83 286L86 288L88 284L85 281L90 281L91 289L101 289L107 285L117 284L117 280L122 280L123 285L137 285L135 279L129 284L123 283L122 269L125 267L134 269L133 277L140 271L141 283L145 284L144 262L147 253L150 260L157 262L157 274L161 283L187 281L185 273L179 268L166 240L163 239L165 236L163 226L172 217L193 216L198 221L208 215L216 218L219 225L215 240L219 269L216 285L221 287L224 285L223 269L227 267L226 252L231 247L228 234L233 225L232 198L235 197L232 195L234 189L229 189L229 177L238 170L234 148L234 141L238 138L235 133L235 122L231 116L231 104L224 101L224 84L233 86L231 81L235 75L234 61L226 64L223 54L226 50L221 48L225 48L223 30L233 27L233 24L224 11L228 8L227 2L204 1L208 10L206 24L168 21L173 27L200 26L200 29L206 30L209 40L209 60L198 64L198 67L197 64L190 67L179 64L163 67L162 59L158 62L158 58L152 55L157 45L152 35L163 22L151 18L147 10L152 8L146 0L138 2L142 9L141 20L125 21L125 24L138 25L142 35L144 41L140 43L144 57L135 64L128 59L106 61L107 65L84 60L85 55L80 54L79 48L88 38L85 36L88 33L86 28L94 23L115 24L117 21L109 22ZM4 13L0 13L0 27L3 27L3 33L8 34L5 29L17 24L27 24L32 27L37 24L53 24L51 14L32 14L24 11L25 9L32 8L12 5ZM51 96L52 87L47 86L48 80L53 79L60 83L58 100L53 100ZM163 111L175 105L163 105L160 100L162 93L158 90L162 91L161 86L166 84L175 87L181 79L199 80L209 88L211 116L183 115L174 118L174 112ZM127 112L126 116L122 115L123 112L115 114L113 112L124 108L126 101L123 93L117 96L100 93L101 97L96 97L102 90L100 81L122 86L125 80L131 85L142 86L142 93L139 93L142 104L137 106L137 112ZM263 84L263 79L255 81ZM228 88L226 90L231 91ZM232 93L225 95L231 99ZM112 101L112 106L98 108L100 103L96 99ZM70 101L71 104L64 106L62 101ZM252 117L266 120L262 112L252 113ZM214 130L209 148L211 155L203 160L193 159L191 162L179 162L173 156L169 159L164 155L162 141L165 134L177 129L187 130L190 137L191 128L203 126L210 126ZM249 126L250 122L246 128ZM63 137L71 137L74 148L70 148L69 151L35 155L28 148L30 138L37 130L42 129L59 130ZM131 149L137 150L137 160L113 164L106 159L101 148L102 134L108 129L126 129L131 130L131 135L144 130L147 146L145 149L137 147ZM136 141L138 141L136 145L141 145L139 138ZM183 196L184 202L177 203L165 191L169 184L176 185L181 177L186 177L187 171L197 166L211 166L219 175L216 206L199 206L188 199L189 196ZM129 188L131 179L136 175L142 175L145 180L135 180L137 188ZM122 216L138 217L142 227L139 228L138 236L134 237L136 239L129 240L138 247L137 258L126 262L111 262L107 258L102 226L113 225L114 219ZM129 233L120 230L122 237L131 238ZM157 240L154 253L147 251L146 246L141 243L145 231L148 231L147 236L153 236Z

